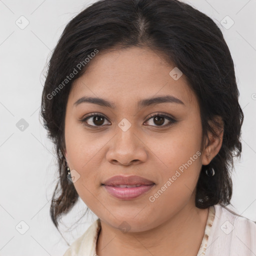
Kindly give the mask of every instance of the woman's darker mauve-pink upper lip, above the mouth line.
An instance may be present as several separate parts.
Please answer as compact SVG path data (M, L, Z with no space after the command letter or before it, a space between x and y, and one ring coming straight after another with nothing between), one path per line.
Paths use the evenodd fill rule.
M102 182L103 185L151 185L154 184L153 181L148 180L146 178L136 176L136 175L130 175L130 176L123 176L123 175L116 175L113 177L110 177L109 179Z

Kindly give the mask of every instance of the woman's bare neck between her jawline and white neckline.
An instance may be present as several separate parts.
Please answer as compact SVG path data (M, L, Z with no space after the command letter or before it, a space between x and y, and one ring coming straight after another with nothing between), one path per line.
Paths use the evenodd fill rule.
M208 208L187 204L159 226L143 232L122 233L101 221L96 253L100 256L179 255L196 256L199 250Z

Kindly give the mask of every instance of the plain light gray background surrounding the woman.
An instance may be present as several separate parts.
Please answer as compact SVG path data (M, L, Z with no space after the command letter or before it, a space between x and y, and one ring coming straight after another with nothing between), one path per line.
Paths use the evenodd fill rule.
M49 216L56 160L38 114L51 50L67 22L91 2L0 0L0 255L62 255L68 247ZM236 212L256 221L256 0L190 4L218 24L233 57L244 123L243 153L235 164L231 202ZM21 15L29 21L24 29L15 24L21 23ZM228 29L221 25L223 20L230 26L227 15L234 21ZM23 131L16 126L21 118L28 123ZM69 242L96 218L91 214L68 229L85 208L80 200L63 218L60 230ZM24 234L20 231L26 224L20 221L29 227Z

